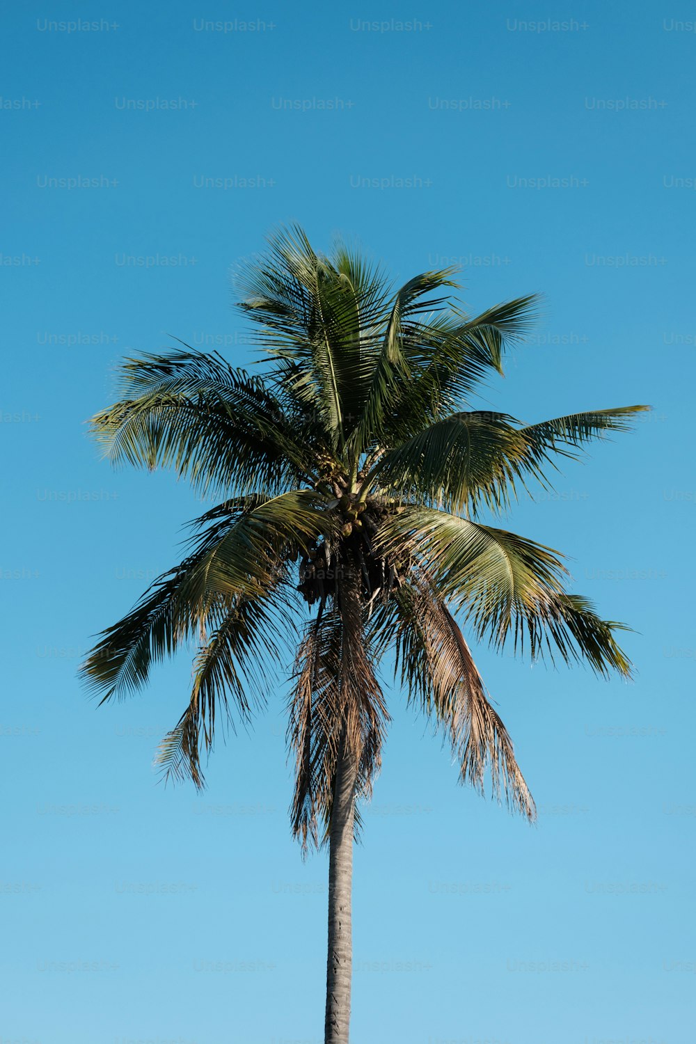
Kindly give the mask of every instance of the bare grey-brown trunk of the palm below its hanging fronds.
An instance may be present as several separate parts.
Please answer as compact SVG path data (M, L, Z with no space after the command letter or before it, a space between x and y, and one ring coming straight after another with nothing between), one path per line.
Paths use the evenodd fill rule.
M356 769L341 741L329 835L329 959L325 1044L349 1044L353 938L353 821Z

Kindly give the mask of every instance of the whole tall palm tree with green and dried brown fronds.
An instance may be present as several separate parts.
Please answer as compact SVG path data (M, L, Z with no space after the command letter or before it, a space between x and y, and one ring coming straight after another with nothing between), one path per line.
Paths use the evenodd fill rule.
M647 407L532 425L466 409L526 333L534 299L472 318L449 303L454 275L428 271L394 292L343 242L326 257L301 229L281 231L237 281L262 375L186 345L127 359L119 401L92 421L113 461L173 468L219 499L193 523L184 561L101 633L81 668L103 703L197 644L188 704L158 754L165 777L202 787L216 714L249 719L269 661L294 649L292 832L305 852L328 844L330 857L327 1044L349 1040L353 844L389 721L385 651L408 703L449 737L460 780L481 792L488 780L530 821L533 800L456 616L497 649L511 641L532 659L630 673L622 625L566 591L557 552L479 520L520 488L549 489L554 457Z

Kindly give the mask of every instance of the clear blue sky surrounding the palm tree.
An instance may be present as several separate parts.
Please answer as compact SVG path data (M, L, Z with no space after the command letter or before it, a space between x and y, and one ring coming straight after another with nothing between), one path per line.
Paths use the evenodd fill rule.
M355 859L352 1039L692 1039L693 19L678 2L5 13L1 1044L320 1041L327 860L290 839L285 688L218 743L198 797L151 769L188 662L98 711L75 678L200 508L169 474L113 472L83 422L118 359L167 333L248 362L230 270L290 220L317 247L357 237L403 282L459 259L472 309L543 292L488 408L654 407L508 519L634 628L632 684L477 650L538 825L457 787L390 693Z

